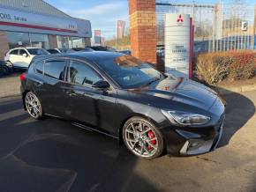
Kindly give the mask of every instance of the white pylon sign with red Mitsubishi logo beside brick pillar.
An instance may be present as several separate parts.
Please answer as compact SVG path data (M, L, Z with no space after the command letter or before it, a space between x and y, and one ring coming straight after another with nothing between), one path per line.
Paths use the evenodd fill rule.
M166 72L191 76L192 19L188 14L167 13L165 17Z

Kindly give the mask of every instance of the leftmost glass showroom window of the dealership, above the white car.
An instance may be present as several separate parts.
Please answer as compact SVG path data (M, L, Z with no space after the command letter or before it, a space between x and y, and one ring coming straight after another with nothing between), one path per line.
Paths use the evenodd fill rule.
M9 48L29 47L28 33L7 32Z

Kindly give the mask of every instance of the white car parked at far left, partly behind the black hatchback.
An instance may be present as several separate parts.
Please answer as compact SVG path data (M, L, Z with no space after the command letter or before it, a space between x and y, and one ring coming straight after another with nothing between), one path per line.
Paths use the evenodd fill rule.
M35 55L49 55L44 48L13 48L6 53L4 61L14 68L27 69Z

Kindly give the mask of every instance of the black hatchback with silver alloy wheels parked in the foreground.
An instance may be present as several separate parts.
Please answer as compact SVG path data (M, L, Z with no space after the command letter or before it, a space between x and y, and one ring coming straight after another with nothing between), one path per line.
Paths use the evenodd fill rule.
M205 153L222 136L225 107L216 92L130 55L42 56L20 79L24 107L34 119L64 118L123 141L141 158L154 159L163 151Z

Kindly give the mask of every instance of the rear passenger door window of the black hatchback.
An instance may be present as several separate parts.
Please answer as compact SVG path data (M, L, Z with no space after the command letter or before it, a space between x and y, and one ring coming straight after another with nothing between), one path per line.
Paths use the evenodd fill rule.
M44 75L49 78L64 80L64 61L47 61L44 63Z

